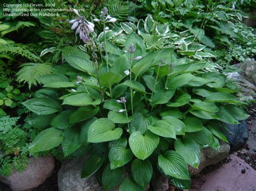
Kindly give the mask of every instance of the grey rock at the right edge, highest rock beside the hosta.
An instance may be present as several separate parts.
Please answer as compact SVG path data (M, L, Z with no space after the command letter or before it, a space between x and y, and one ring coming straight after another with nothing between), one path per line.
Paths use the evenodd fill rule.
M254 85L256 84L256 61L248 60L243 63L238 63L234 65L235 67L241 69L239 74L245 77L246 80L250 81Z

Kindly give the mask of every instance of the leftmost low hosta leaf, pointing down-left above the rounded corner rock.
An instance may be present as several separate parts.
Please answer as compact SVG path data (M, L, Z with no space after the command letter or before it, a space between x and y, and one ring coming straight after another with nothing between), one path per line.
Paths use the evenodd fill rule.
M61 130L55 128L49 128L43 130L39 133L33 142L29 145L29 149L31 152L42 152L48 151L56 146L59 146L62 143Z

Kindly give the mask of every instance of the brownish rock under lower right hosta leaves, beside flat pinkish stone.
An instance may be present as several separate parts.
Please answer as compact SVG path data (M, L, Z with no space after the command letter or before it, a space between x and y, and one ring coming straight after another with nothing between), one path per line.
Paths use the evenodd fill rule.
M196 175L201 172L206 166L215 165L221 160L225 159L230 152L230 145L221 142L219 151L213 150L211 147L207 147L201 150L201 160L198 168L188 166L188 170L191 175Z

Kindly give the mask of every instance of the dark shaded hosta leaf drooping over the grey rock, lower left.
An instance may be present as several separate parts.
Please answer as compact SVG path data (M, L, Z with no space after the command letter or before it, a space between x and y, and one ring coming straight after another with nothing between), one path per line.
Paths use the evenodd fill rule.
M86 178L94 174L96 171L98 171L100 166L102 166L103 162L103 157L90 155L90 157L84 161L84 167L81 172L81 178Z

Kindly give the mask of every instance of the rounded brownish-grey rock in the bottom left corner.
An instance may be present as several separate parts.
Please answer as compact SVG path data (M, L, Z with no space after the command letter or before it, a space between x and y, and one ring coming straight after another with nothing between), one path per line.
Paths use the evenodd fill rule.
M30 158L28 167L23 172L14 170L7 178L0 176L0 181L12 190L28 190L41 185L53 173L55 159L49 157Z

